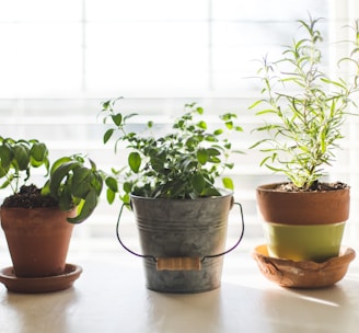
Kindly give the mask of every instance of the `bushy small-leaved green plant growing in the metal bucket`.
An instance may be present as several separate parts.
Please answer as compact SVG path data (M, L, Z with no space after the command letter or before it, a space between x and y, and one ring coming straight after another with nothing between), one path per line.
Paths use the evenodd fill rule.
M124 183L120 198L125 203L129 202L129 194L164 198L221 195L216 180L233 168L229 161L234 152L229 133L242 130L234 123L234 113L221 115L221 126L210 129L204 108L186 104L170 133L155 136L153 122L148 122L146 134L128 130L128 122L136 114L116 112L117 100L102 104L104 124L113 125L103 139L106 143L116 135L115 151L120 142L129 150L125 169L113 170ZM223 176L222 186L233 190L232 180Z

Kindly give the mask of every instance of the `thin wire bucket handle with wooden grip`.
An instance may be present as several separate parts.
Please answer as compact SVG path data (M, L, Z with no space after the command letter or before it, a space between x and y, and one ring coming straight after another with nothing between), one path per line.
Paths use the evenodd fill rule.
M119 220L120 217L123 215L123 210L125 206L129 206L130 204L123 204L118 214L118 218L117 218L117 223L116 223L116 236L117 236L117 240L120 243L120 245L129 253L139 256L139 257L143 257L143 259L151 259L155 264L159 271L198 271L200 269L200 264L206 260L206 259L212 259L212 257L219 257L222 256L231 251L233 251L242 241L243 236L244 236L244 217L243 217L243 208L242 205L240 203L233 203L232 205L238 205L240 207L241 210L241 225L242 225L242 230L241 230L241 234L239 240L236 241L236 243L225 250L224 252L218 253L218 254L211 254L211 255L205 255L201 259L200 257L170 257L170 259L158 259L154 257L151 254L139 254L132 250L130 250L128 246L126 246L124 244L124 242L121 241L120 237L119 237Z

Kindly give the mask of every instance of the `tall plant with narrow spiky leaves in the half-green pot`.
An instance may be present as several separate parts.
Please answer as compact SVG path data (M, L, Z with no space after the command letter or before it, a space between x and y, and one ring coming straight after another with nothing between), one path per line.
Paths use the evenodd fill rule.
M266 154L260 165L283 173L302 191L317 188L324 166L335 160L346 116L356 107L359 83L358 21L350 26L354 37L340 44L350 51L337 62L339 69L347 66L349 73L333 79L323 69L320 20L299 21L305 36L293 39L280 59L264 57L258 70L264 97L250 107L262 106L256 114L266 120L255 130L267 137L252 146L260 146Z

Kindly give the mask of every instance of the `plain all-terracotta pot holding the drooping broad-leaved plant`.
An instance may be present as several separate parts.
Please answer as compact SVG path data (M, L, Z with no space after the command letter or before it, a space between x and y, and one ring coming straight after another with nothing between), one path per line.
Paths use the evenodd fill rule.
M13 269L18 277L60 275L66 267L76 210L59 208L1 208Z

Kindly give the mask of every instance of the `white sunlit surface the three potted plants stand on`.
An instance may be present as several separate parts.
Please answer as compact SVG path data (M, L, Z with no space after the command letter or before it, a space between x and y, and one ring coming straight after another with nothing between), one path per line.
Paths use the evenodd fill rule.
M255 244L244 242L225 256L219 289L196 295L148 290L141 260L120 248L72 251L69 261L81 265L83 273L70 289L18 295L0 286L3 330L0 331L357 332L359 265L356 261L334 287L286 289L259 273L251 257L252 245ZM2 252L2 264L4 257Z

